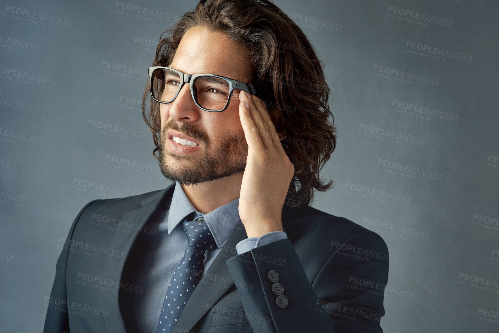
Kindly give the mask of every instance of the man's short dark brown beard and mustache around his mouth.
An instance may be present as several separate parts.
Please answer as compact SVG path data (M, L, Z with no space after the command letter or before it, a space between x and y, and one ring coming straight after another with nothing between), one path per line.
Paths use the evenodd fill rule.
M168 150L166 132L175 129L203 143L203 156L179 155ZM217 146L209 143L206 135L190 123L180 126L175 120L166 123L161 129L161 145L159 147L159 166L161 173L171 181L180 185L196 185L237 173L244 173L248 156L248 143L244 131L227 133L217 139ZM197 154L199 155L199 154Z

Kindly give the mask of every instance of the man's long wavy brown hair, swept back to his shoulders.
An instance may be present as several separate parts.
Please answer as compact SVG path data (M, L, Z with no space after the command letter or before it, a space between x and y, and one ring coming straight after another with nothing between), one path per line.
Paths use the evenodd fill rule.
M286 202L308 205L313 201L314 189L332 188L332 180L326 183L320 178L320 170L336 147L329 87L324 64L303 31L268 0L201 0L173 28L161 34L152 66L168 66L180 40L194 26L221 31L242 45L252 63L252 81L273 95L266 100L267 108L279 114L275 127L284 135L281 143L295 170ZM163 38L165 33L167 37ZM153 133L153 155L159 159L159 103L150 98L149 90L148 82L142 116ZM148 100L150 111L146 112Z

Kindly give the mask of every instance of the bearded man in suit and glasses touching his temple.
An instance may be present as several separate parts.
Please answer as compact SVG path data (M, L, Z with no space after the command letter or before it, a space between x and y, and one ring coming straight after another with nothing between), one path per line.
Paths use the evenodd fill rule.
M83 207L44 332L382 332L384 241L308 205L336 138L305 35L267 0L171 33L143 114L175 183Z

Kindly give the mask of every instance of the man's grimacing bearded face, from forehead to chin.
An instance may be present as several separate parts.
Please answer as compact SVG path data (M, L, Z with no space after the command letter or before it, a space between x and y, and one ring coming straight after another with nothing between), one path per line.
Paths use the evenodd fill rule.
M185 33L169 67L251 83L248 62L243 48L225 34L197 26ZM185 83L173 102L160 105L159 161L165 177L192 185L244 172L248 144L239 117L239 92L234 90L225 111L209 112L196 106ZM177 143L173 137L198 145L182 145L186 141Z

